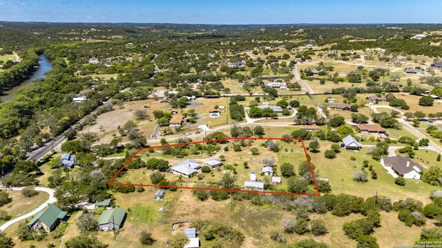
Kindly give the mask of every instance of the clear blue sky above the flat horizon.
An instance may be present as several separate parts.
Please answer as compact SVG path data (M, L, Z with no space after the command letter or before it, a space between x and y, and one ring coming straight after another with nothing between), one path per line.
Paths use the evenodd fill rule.
M442 23L441 0L0 0L1 21Z

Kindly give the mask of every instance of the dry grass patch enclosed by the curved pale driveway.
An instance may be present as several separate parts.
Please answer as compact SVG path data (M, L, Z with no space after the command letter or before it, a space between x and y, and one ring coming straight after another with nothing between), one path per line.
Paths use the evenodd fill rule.
M19 191L8 191L9 197L12 198L12 202L0 207L0 210L8 212L12 218L28 214L30 211L39 207L49 196L46 192L39 192L37 196L30 198L24 197ZM0 222L0 225L6 223L6 221Z

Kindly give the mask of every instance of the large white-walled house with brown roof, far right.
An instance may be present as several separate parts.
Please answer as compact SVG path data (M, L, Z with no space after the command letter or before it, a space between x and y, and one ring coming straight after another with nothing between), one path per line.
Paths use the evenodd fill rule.
M403 176L403 178L421 179L422 167L409 157L385 156L381 158L381 165L390 166L398 176Z

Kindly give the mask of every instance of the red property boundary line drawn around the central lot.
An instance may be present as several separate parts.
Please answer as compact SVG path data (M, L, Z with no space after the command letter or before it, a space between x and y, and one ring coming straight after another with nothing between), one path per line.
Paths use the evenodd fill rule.
M112 181L117 178L117 176L122 172L124 167L128 165L128 163L131 163L132 159L137 156L139 152L141 152L144 149L155 149L155 148L163 148L163 147L174 147L177 145L193 145L193 144L199 144L199 143L210 143L210 142L218 142L218 141L234 141L234 140L288 140L288 141L300 141L302 144L302 148L304 149L305 159L307 159L307 163L309 164L311 177L313 178L314 185L316 187L316 194L302 194L302 193L289 193L289 192L260 192L260 191L253 191L253 190L243 190L243 189L209 189L204 187L181 187L181 186L160 186L160 185L143 185L143 184L134 184L134 183L113 183ZM200 190L217 190L217 191L224 191L224 192L244 192L244 193L258 193L258 194L281 194L281 195L295 195L295 196L320 196L318 184L316 183L316 178L313 173L313 169L311 169L311 164L309 161L309 157L307 156L307 150L305 149L304 141L302 141L302 138L222 138L222 139L214 139L209 141L193 141L189 143L178 143L178 144L170 144L170 145L159 145L155 147L143 147L137 150L135 154L132 155L132 157L121 167L117 174L115 174L110 180L108 180L108 185L125 185L125 186L142 186L142 187L162 187L162 188L173 188L173 189L200 189Z

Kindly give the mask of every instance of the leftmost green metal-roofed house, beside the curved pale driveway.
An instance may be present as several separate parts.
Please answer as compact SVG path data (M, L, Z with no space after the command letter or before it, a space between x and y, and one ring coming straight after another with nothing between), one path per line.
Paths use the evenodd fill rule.
M50 232L53 231L61 221L66 219L66 214L68 214L66 211L61 211L61 209L52 204L49 205L46 210L39 212L32 218L28 225L33 230L43 229L46 232Z

